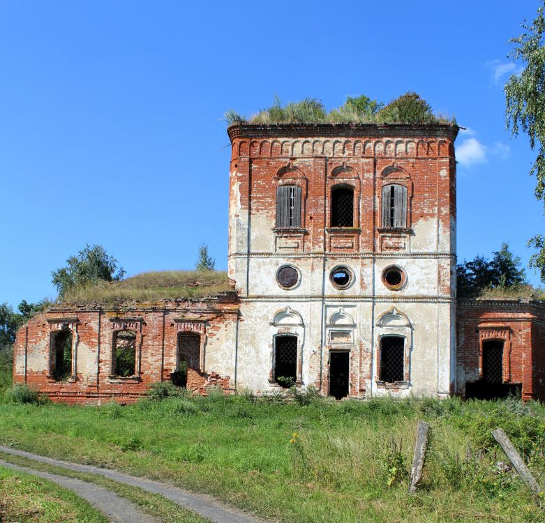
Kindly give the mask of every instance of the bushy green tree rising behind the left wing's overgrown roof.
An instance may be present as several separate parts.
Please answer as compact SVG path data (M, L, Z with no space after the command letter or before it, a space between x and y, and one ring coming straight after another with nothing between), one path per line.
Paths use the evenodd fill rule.
M103 280L117 282L123 279L124 268L117 266L117 259L107 254L102 245L86 245L76 256L70 256L68 266L53 271L52 282L62 298L67 291Z

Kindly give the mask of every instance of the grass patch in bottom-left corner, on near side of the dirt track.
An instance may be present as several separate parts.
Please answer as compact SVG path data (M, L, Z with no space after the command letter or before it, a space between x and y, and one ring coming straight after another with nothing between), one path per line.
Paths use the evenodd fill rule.
M0 467L0 522L107 523L108 520L70 490Z

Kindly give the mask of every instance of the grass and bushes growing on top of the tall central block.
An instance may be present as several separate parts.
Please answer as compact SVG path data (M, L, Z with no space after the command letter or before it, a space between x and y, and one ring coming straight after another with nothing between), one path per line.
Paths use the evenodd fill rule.
M409 91L385 105L368 96L348 96L341 107L327 111L321 100L304 98L299 102L283 105L275 97L274 103L249 119L233 109L225 113L229 125L237 123L456 123L434 114L431 106L420 96Z

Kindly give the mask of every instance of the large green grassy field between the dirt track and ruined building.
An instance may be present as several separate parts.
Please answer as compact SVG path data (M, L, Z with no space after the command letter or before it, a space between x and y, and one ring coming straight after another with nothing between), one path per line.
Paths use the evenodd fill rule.
M167 397L120 407L0 404L0 442L209 492L283 522L542 522L490 430L545 480L545 408L459 400ZM407 494L416 423L424 480Z

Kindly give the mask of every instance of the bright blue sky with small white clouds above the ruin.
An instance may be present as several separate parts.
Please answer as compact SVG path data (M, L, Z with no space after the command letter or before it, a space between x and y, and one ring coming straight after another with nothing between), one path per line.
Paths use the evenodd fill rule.
M412 90L455 114L458 258L507 241L526 263L543 208L503 85L538 6L0 0L0 302L54 297L51 271L86 243L128 275L192 268L202 242L226 268L223 114L275 93L336 107Z

